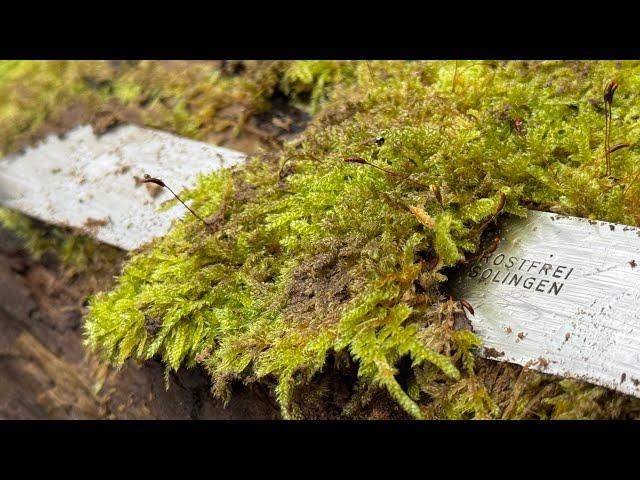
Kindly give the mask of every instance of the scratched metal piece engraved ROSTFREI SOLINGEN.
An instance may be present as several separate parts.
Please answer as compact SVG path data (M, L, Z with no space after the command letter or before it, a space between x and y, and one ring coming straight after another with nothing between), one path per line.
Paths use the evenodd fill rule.
M483 355L640 396L640 230L531 211L499 235L452 279Z

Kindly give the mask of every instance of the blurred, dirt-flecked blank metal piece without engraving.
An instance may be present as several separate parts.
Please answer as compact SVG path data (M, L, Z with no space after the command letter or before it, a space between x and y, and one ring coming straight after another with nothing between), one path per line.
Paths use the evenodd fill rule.
M195 186L199 174L244 159L234 150L135 125L101 136L82 126L0 159L0 205L132 250L164 235L186 213L180 204L159 211L173 197L166 190L154 197L136 176L148 173L179 192Z

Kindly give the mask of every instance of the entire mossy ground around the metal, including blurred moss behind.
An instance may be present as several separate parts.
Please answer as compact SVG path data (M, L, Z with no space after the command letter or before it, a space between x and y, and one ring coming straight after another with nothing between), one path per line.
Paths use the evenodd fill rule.
M40 105L79 98L203 140L242 131L276 94L315 113L301 138L201 178L185 197L213 227L176 223L92 299L87 344L113 363L201 363L222 397L264 382L287 418L638 415L636 399L476 358L441 290L498 213L640 222L640 63L53 66L46 99L0 112L5 149L42 122ZM10 104L16 72L46 70L3 68ZM605 145L619 143L606 172Z

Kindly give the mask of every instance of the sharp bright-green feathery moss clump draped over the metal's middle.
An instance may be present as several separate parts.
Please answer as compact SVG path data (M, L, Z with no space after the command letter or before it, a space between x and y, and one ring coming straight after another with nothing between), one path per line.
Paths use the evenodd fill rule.
M332 74L315 74L320 65L299 64L289 88L322 85ZM342 352L360 382L384 387L414 417L501 414L474 372L478 339L453 330L455 307L441 303L442 268L475 251L503 195L511 214L536 205L636 222L638 153L616 152L613 178L604 177L600 109L615 77L612 143L634 144L640 65L351 68L354 80L335 83L296 148L201 180L194 206L222 211L223 224L215 233L176 224L136 256L119 287L92 301L92 348L116 363L156 354L173 369L202 362L223 396L234 379L275 378L287 418L300 415L295 389ZM554 405L565 415L566 402Z

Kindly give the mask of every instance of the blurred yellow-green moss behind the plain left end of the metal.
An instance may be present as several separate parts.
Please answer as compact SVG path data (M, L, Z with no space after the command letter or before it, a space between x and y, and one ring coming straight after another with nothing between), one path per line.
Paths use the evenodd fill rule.
M238 135L276 92L311 106L349 62L0 61L0 153L79 123L134 120L201 140ZM344 75L343 75L344 74ZM305 103L306 108L306 103ZM106 111L105 111L106 110Z

